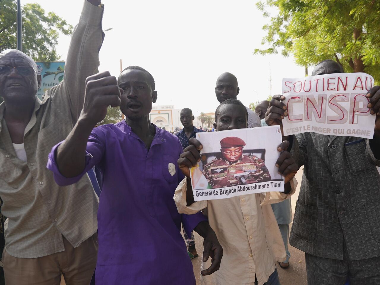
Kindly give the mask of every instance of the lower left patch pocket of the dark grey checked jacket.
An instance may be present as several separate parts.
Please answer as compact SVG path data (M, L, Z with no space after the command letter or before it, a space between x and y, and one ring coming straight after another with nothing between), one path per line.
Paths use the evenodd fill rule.
M297 201L292 226L294 234L307 242L312 242L317 231L317 219L317 206L306 205Z

